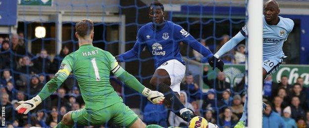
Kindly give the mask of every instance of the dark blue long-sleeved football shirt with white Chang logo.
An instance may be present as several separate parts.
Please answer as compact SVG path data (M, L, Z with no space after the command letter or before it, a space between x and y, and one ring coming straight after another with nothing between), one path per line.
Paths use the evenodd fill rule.
M164 21L164 26L161 29L154 28L152 22L141 27L137 32L135 45L131 50L120 54L119 61L128 62L136 60L144 47L147 46L151 55L154 57L155 68L172 59L176 59L182 64L185 64L179 52L179 42L187 43L206 58L213 56L205 46L181 26L170 21Z

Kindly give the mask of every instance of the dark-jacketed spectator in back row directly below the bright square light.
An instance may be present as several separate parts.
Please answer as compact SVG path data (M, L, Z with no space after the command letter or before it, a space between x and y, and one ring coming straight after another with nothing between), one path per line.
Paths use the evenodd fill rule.
M33 64L38 69L39 73L52 73L50 71L51 60L45 49L41 50L40 56L33 60Z

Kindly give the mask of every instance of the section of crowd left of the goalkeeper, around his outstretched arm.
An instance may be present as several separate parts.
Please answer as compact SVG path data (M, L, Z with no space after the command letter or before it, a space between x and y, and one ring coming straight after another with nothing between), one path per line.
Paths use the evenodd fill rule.
M0 37L0 102L5 106L7 127L55 127L65 113L84 106L73 76L47 97L31 114L17 114L18 101L36 96L58 70L63 58L70 52L62 46L59 55L51 59L47 50L37 55L27 51L22 32L8 37Z

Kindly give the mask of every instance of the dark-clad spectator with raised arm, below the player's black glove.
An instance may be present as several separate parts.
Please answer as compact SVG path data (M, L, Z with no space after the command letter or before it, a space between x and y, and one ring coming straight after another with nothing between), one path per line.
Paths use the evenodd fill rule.
M215 89L217 92L217 99L222 99L222 95L219 92L222 92L226 89L230 89L231 88L231 84L225 81L225 75L223 72L218 72L216 79L211 79L208 80L208 67L205 66L204 67L204 78L203 81L211 88L211 89ZM215 81L215 82L214 82ZM213 85L213 83L215 83L215 85Z

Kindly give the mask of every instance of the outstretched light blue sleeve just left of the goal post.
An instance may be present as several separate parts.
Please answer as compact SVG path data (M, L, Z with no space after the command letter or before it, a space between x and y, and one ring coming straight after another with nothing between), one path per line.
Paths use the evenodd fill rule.
M242 34L242 32L238 32L233 38L227 41L215 54L219 57L222 56L224 53L233 49L240 41L244 40L246 37Z

